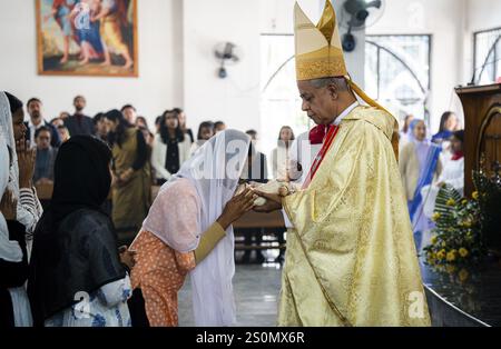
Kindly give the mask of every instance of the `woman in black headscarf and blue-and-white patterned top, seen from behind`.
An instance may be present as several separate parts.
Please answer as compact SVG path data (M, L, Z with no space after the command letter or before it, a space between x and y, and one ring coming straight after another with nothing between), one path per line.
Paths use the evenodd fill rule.
M36 326L130 326L127 251L101 209L111 186L106 143L76 136L55 163L49 209L35 231L28 295ZM127 263L128 266L126 266Z

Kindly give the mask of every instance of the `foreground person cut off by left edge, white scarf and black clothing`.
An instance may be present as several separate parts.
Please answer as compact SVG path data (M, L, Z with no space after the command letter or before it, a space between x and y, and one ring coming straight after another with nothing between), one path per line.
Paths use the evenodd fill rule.
M24 226L17 221L18 202L7 189L12 152L0 132L0 328L32 325L24 289L28 279Z

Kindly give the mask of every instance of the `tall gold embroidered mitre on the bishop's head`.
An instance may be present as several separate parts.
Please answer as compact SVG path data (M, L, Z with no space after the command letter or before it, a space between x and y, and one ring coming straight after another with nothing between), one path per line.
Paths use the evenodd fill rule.
M336 13L330 0L316 27L296 2L294 7L296 77L298 81L347 76Z

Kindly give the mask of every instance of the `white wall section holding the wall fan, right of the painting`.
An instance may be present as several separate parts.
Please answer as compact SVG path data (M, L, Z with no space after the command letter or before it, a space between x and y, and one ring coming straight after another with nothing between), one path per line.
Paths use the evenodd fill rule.
M184 104L191 124L223 120L230 128L259 129L258 16L258 1L184 1ZM219 79L214 48L225 41L243 57Z

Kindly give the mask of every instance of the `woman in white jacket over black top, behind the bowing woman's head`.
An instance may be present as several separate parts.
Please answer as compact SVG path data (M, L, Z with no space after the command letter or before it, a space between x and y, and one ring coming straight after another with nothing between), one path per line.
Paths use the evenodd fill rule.
M175 112L167 110L163 118L160 131L155 134L151 153L151 166L155 169L157 185L164 185L179 171L181 164L189 158L191 146Z

